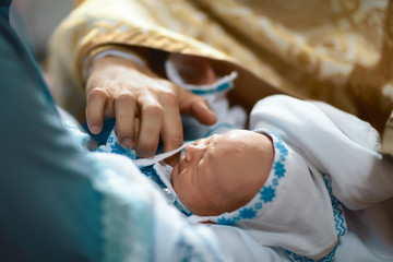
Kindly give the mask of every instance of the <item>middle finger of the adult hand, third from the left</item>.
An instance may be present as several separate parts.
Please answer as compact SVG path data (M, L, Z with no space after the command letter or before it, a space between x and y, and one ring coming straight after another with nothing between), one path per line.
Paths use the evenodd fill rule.
M139 156L150 157L157 151L164 119L163 107L150 95L140 97L138 104L141 110L141 123L135 150Z

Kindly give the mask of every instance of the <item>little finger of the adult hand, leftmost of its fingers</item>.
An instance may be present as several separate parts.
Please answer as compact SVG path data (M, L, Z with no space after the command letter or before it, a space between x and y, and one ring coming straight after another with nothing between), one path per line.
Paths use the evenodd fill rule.
M104 88L94 88L87 95L86 121L88 130L98 134L103 129L104 110L108 103L109 94Z

